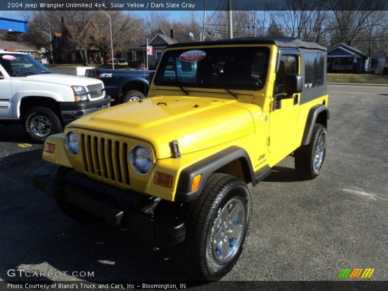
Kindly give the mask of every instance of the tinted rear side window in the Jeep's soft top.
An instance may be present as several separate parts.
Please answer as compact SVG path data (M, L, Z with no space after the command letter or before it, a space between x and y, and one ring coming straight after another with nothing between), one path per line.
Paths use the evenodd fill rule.
M305 88L311 89L324 84L324 55L322 52L305 53Z

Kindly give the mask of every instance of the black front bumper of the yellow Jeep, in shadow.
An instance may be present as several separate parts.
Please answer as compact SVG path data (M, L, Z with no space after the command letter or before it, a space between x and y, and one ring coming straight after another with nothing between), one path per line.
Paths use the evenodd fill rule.
M185 238L184 222L141 211L142 204L149 201L146 194L121 190L75 172L68 173L59 182L49 172L37 170L32 173L32 184L50 198L75 205L104 218L110 225L126 228L155 242L172 245Z

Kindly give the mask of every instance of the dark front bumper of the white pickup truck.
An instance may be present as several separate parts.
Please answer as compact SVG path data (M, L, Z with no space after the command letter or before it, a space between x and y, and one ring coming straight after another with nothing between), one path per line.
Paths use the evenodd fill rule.
M61 108L62 120L66 126L78 118L110 107L111 97L105 95L104 98L97 101L63 102L59 103L59 106Z

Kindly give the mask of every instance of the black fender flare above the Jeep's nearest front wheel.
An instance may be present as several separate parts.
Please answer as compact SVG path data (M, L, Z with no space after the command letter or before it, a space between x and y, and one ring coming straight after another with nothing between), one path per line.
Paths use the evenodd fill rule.
M253 186L256 186L260 180L271 173L271 168L268 165L262 168L264 171L260 169L258 173L255 173L248 153L239 146L230 146L183 169L178 177L177 191L174 200L178 202L189 202L196 199L201 194L210 174L235 160L240 160L242 164L242 173L245 182L252 182ZM191 186L194 177L198 174L202 175L201 181L198 189L193 192L191 191Z

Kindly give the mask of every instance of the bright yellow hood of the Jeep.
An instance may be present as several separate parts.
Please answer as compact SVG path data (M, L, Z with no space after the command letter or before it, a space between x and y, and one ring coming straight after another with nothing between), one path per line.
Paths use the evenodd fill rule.
M252 114L238 100L163 96L129 102L87 115L68 127L130 136L154 146L157 159L217 146L255 131Z

